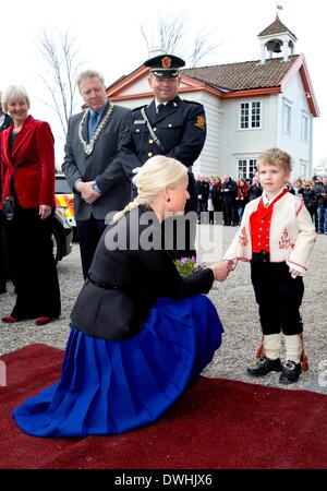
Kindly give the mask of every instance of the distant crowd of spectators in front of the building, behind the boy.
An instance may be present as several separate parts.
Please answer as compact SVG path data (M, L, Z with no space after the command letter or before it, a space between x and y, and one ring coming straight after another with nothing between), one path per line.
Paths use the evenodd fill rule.
M314 176L312 179L296 179L287 183L288 190L303 199L318 233L327 233L327 177ZM222 212L222 224L238 226L245 205L263 193L258 172L252 179L233 179L230 176L196 177L197 214L206 212L207 221L215 223L214 213Z

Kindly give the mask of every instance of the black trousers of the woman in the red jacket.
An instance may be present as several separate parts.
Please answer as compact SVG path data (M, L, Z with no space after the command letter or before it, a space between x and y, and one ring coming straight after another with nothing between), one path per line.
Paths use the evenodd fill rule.
M52 255L53 214L41 220L38 208L16 206L7 221L10 267L17 294L12 315L19 320L60 315L60 290Z

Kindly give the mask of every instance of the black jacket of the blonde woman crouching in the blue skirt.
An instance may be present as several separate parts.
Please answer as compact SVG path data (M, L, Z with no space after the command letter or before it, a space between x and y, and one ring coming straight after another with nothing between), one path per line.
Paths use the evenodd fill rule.
M140 331L158 297L179 299L209 291L214 282L210 268L183 278L167 251L144 250L148 226L153 227L152 238L161 243L161 226L155 214L143 206L109 225L102 233L89 279L71 314L73 325L84 333L125 339Z

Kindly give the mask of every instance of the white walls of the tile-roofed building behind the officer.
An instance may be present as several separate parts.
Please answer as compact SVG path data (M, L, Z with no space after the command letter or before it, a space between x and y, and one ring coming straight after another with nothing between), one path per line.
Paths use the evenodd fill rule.
M183 85L181 85L183 86ZM184 85L184 87L186 87ZM134 95L149 91L147 76L121 92L120 95ZM199 158L194 163L195 176L238 176L238 160L257 158L270 147L279 146L289 152L294 159L292 177L301 176L301 165L307 165L306 177L312 176L312 125L311 116L300 73L288 83L282 94L235 99L219 99L204 91L183 92L181 98L195 100L205 107L207 139ZM118 101L124 107L135 108L148 104L152 97ZM240 129L240 107L243 101L261 100L262 127ZM288 100L292 107L291 134L283 131L283 106ZM302 111L308 118L308 141L301 141Z

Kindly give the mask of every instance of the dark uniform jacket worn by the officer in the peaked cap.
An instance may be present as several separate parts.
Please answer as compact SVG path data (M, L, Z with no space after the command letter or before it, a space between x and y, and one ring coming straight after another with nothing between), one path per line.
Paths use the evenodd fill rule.
M142 167L154 155L166 155L180 160L186 167L192 166L206 139L206 120L202 104L182 100L177 96L159 115L156 113L155 100L145 107L146 116L165 152L150 136L141 109L132 111L129 128L120 145L119 153L126 175L132 178L133 169Z

